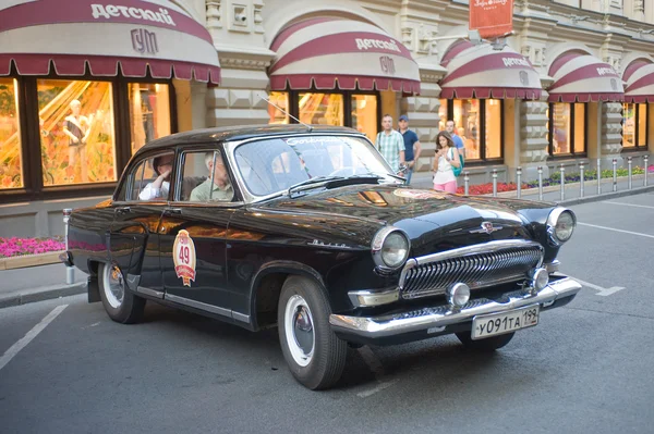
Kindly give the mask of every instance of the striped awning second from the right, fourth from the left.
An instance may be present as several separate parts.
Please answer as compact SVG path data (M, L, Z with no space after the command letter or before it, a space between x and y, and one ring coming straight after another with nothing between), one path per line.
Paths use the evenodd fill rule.
M559 55L549 66L549 102L622 101L620 75L606 62L581 51Z

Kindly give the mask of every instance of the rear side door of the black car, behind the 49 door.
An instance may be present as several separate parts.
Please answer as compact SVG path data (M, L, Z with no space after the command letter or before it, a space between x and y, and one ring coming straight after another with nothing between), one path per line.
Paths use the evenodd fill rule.
M134 166L124 183L122 197L113 203L113 222L108 234L111 262L121 269L130 288L157 297L164 295L157 230L169 197L143 199L140 196L157 177L155 162L173 156L171 151L159 152Z

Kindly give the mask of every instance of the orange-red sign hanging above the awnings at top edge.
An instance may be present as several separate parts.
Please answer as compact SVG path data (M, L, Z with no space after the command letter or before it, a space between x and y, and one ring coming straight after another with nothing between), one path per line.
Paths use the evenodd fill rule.
M513 0L470 0L469 28L487 39L511 33Z

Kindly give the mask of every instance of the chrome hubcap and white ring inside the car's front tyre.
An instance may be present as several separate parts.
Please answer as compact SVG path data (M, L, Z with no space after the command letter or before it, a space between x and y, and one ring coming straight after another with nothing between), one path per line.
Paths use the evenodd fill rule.
M315 331L311 309L304 298L292 296L284 311L286 340L295 363L306 367L314 354Z

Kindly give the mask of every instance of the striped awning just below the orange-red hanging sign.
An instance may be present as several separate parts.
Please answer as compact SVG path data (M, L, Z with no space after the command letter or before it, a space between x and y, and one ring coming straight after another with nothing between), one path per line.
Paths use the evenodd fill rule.
M510 47L495 50L489 44L455 42L440 64L440 98L538 99L541 77L531 62Z

